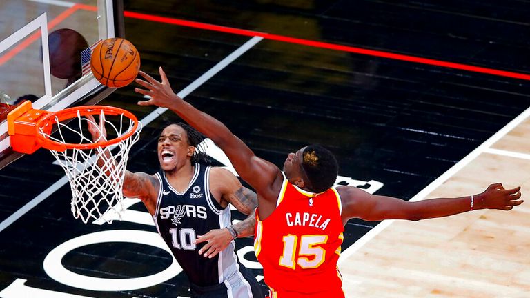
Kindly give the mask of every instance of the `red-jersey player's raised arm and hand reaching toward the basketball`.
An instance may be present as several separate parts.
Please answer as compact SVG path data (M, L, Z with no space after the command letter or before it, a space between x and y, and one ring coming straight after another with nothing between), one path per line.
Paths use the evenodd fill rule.
M140 72L145 81L136 79L136 82L145 89L135 88L135 91L141 95L148 95L150 99L148 101L140 101L138 104L141 106L155 105L175 112L190 126L212 139L226 153L239 176L262 197L265 195L266 199L276 199L276 197L268 196L267 193L276 179L282 179L282 173L279 168L264 159L256 157L254 152L243 141L233 135L223 123L197 110L190 103L178 97L171 89L162 68L159 68L159 73L161 81L153 79L145 72Z

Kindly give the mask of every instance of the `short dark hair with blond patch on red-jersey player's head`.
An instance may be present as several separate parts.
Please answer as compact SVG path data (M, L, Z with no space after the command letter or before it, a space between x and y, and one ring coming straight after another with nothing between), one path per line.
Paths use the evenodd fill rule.
M330 150L313 144L302 152L302 169L309 179L311 191L324 192L337 180L339 164Z

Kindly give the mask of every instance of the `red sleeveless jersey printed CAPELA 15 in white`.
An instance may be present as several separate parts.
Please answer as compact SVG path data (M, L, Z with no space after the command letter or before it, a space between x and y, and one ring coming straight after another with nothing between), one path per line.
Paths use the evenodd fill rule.
M315 194L284 179L276 210L263 221L256 212L254 250L271 298L344 297L341 211L335 188Z

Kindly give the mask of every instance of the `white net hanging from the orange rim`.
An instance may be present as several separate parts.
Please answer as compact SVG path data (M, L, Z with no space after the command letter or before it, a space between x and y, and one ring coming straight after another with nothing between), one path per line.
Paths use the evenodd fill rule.
M101 111L100 119L102 119ZM108 117L107 117L108 118ZM105 117L103 117L105 119ZM124 117L123 114L114 117L114 123L105 119L105 128L109 135L124 135L133 129L135 121ZM77 119L72 119L69 126L60 123L55 117L57 132L55 136L47 135L39 128L39 133L52 141L59 143L73 143L70 139L77 139L81 143L95 143L92 135L88 132L88 123L93 123L101 134L98 123L94 123L79 115ZM75 123L77 122L77 123ZM116 122L119 122L116 125ZM121 212L125 210L122 204L122 188L128 161L129 150L139 139L141 123L132 136L121 140L119 143L94 149L66 149L64 152L50 150L59 164L63 167L66 177L70 181L72 190L71 209L74 217L81 218L86 224L90 218L95 220L104 219L109 224L112 223L114 212L121 219ZM69 137L69 141L66 138ZM106 141L103 135L97 141ZM96 142L97 142L96 141ZM99 161L99 162L98 162ZM104 216L106 215L106 216Z

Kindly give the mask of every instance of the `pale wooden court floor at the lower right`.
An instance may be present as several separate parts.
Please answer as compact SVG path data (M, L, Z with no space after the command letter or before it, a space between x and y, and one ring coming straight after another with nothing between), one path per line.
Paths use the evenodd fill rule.
M501 131L447 179L434 181L426 198L473 194L494 181L521 186L527 198L529 115L530 109L506 135ZM346 297L530 297L528 201L510 212L475 210L377 228L377 235L341 256Z

